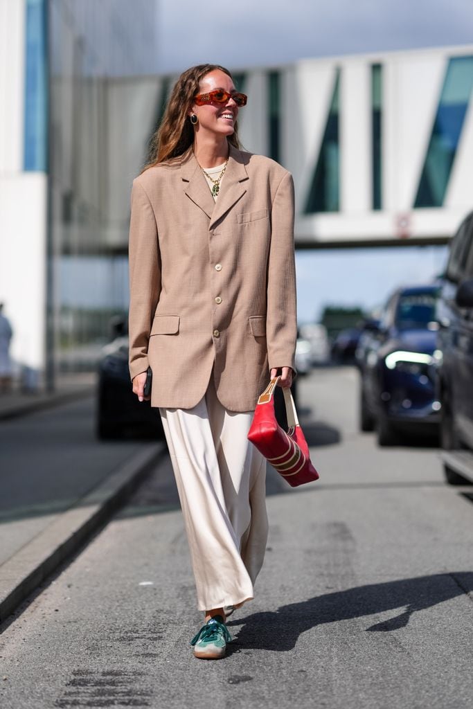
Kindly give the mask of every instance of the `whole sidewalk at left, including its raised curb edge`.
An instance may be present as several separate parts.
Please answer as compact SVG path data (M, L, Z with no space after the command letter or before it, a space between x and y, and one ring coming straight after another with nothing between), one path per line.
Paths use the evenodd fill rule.
M0 397L0 623L106 523L165 451L160 441L96 440L88 376L55 393Z

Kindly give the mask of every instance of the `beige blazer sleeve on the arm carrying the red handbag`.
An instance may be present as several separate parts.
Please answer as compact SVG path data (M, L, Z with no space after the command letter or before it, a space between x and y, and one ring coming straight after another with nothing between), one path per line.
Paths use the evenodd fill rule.
M266 338L269 369L292 367L295 371L297 316L294 182L289 172L279 183L271 210Z

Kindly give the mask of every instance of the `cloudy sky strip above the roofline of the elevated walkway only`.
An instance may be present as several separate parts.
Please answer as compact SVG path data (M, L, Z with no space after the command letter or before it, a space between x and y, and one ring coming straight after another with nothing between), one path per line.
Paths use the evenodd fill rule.
M473 41L472 0L157 0L157 63L232 69ZM177 38L179 40L177 41Z

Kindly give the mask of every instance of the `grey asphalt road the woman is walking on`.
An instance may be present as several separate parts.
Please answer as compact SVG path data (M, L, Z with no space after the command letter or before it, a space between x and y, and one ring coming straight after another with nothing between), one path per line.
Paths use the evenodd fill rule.
M225 659L192 656L201 618L165 460L5 628L1 705L471 708L471 489L444 483L435 447L360 435L356 384L349 368L299 382L321 480L293 491L269 471L265 566Z

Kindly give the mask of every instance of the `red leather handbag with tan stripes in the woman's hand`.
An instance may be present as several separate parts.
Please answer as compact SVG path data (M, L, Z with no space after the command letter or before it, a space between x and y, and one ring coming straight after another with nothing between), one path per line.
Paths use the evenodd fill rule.
M289 429L277 423L274 414L274 388L281 377L276 376L263 391L255 409L248 440L262 453L291 487L318 480L318 472L309 457L308 445L297 419L291 390L283 387Z

